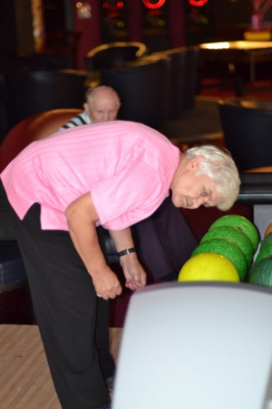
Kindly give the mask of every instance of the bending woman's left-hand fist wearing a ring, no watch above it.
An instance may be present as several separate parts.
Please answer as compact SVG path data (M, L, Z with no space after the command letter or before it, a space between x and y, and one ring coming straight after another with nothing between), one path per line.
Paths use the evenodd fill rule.
M122 292L117 276L108 266L101 271L92 272L92 282L97 296L104 300L113 299Z

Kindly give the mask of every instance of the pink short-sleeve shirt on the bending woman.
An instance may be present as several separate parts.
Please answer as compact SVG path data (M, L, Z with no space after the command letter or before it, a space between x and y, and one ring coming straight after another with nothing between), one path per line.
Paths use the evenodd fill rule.
M161 133L129 121L84 125L33 142L2 172L22 219L41 205L44 230L68 230L65 210L87 192L102 224L122 230L150 216L168 196L179 149Z

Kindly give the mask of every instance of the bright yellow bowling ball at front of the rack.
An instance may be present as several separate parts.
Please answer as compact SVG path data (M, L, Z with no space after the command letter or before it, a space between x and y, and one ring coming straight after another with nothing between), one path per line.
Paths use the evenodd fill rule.
M182 266L178 281L240 281L237 269L224 256L201 253Z

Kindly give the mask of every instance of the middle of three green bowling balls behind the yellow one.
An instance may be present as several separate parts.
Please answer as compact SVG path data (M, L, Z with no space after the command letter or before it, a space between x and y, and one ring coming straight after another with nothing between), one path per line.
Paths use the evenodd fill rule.
M211 239L226 239L236 244L243 252L248 267L251 266L254 256L253 247L250 239L239 229L231 226L219 226L208 231L202 238L201 243Z

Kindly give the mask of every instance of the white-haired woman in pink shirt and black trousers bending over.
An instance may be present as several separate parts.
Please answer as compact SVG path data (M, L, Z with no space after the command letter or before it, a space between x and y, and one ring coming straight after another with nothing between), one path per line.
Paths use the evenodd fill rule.
M154 129L113 121L32 143L1 178L61 405L110 407L107 300L122 288L96 225L109 230L125 285L135 290L146 279L130 226L153 214L169 191L176 207L229 209L240 185L236 166L220 148L182 153Z

